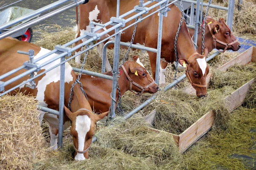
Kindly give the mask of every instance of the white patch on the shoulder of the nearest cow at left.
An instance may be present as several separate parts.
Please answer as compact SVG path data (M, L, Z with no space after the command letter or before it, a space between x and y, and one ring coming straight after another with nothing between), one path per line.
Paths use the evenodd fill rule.
M43 56L44 54L49 53L50 50L47 50L45 48L41 48L39 53L35 56L35 59L38 57ZM41 59L38 61L38 64L42 64L44 62L47 62L50 59L53 59L55 57L58 57L58 54L52 54L48 57L45 57L44 59ZM52 68L54 65L59 64L61 59L57 59L54 62L51 62L48 65L45 65L44 67L41 68L41 70L49 70L49 68ZM69 83L70 81L73 81L73 76L71 72L73 71L72 67L68 62L65 63L65 83ZM46 90L47 85L49 85L52 82L58 82L60 81L60 75L61 75L61 67L58 66L57 68L52 69L51 71L48 71L45 76L38 81L38 84L36 88L38 89L38 93L35 99L37 99L39 102L42 102L42 106L47 107L47 104L44 101L44 92Z

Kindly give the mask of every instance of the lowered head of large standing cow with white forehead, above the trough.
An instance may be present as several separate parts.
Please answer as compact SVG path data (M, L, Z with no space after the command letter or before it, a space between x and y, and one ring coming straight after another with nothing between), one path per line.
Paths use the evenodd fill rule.
M179 63L186 66L186 77L195 88L196 95L201 98L207 94L206 76L209 73L209 67L206 62L208 49L204 48L204 55L198 53L193 54L189 59L181 58Z

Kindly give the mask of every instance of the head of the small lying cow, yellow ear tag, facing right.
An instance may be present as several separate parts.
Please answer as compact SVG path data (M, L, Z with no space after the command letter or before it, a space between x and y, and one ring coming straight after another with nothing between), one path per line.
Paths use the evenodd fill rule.
M158 91L158 85L154 82L154 79L140 62L138 56L134 56L133 59L125 62L123 65L123 70L124 69L126 71L125 74L128 80L130 78L128 82L130 91L133 90L140 94L153 94Z

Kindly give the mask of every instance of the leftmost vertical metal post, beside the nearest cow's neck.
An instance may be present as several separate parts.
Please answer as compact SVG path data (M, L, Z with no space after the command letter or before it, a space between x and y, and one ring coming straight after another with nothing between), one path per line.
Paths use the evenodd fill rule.
M61 57L61 62L65 57ZM61 79L60 79L60 100L59 100L59 126L58 126L58 147L62 148L63 137L63 116L64 116L64 89L65 89L65 63L61 65Z

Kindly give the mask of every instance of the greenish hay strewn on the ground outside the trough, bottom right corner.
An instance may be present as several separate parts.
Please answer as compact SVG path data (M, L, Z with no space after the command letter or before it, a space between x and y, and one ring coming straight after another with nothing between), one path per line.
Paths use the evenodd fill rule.
M227 130L213 128L183 154L189 169L253 169L256 160L256 110L240 107L231 113ZM246 155L252 160L239 159Z

